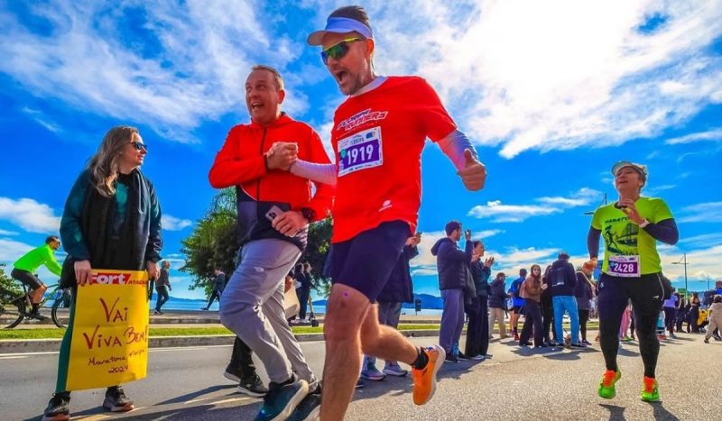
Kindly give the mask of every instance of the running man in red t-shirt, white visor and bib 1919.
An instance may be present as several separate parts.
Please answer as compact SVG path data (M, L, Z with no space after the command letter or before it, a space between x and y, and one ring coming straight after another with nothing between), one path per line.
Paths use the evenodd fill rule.
M434 394L445 352L440 346L418 349L393 328L379 325L376 297L416 230L426 138L440 145L469 190L484 187L486 169L424 79L375 74L375 41L363 8L336 10L308 42L322 46L321 58L348 96L331 131L336 165L300 159L291 168L302 177L336 184L320 416L344 417L362 351L410 364L413 401L422 405Z

